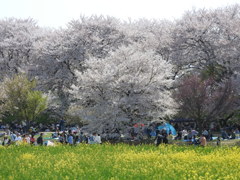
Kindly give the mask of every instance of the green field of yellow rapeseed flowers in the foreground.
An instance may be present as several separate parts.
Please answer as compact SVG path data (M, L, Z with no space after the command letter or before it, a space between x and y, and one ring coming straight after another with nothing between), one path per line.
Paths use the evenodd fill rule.
M0 146L0 179L240 179L239 147Z

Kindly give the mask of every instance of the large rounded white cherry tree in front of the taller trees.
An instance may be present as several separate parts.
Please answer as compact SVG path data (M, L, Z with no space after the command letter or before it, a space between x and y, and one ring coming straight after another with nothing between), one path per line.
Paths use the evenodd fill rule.
M78 84L71 92L80 104L72 113L91 128L131 125L175 113L172 65L154 51L138 44L123 46L104 59L87 60L84 67L85 72L76 71Z

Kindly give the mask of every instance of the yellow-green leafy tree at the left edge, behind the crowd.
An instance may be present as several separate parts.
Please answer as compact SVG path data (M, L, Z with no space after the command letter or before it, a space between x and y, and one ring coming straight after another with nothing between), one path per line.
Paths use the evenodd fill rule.
M47 108L47 98L36 88L35 80L28 80L25 75L6 78L1 84L1 114L5 120L35 121L36 117Z

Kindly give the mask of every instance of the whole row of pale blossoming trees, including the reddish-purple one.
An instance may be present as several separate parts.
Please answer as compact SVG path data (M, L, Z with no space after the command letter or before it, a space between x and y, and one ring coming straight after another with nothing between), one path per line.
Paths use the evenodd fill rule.
M239 109L239 57L239 5L175 21L81 17L57 30L0 20L2 81L26 73L55 118L91 128L174 116L226 124Z

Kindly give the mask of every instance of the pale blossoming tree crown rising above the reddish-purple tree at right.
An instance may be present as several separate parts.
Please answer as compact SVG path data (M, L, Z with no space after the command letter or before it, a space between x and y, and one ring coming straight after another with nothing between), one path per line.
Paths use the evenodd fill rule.
M220 78L239 71L239 12L239 5L186 12L172 31L170 59L179 69L221 69Z

